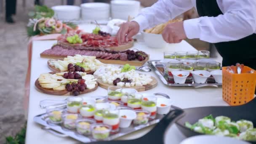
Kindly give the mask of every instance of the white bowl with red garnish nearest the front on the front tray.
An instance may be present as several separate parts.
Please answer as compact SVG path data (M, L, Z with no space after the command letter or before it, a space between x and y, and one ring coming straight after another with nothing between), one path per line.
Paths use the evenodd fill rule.
M122 117L125 115L126 117ZM131 122L136 118L136 112L131 109L120 109L119 110L119 116L120 116L120 128L128 128L131 125Z

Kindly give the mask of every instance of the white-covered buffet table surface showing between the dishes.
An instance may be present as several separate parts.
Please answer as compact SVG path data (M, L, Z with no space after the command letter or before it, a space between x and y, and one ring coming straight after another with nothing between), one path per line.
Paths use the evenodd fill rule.
M40 58L40 53L46 49L51 48L55 44L55 40L49 41L34 41L32 47L32 65L31 65L31 79L30 79L30 97L29 97L29 110L28 110L28 121L27 121L27 135L26 144L79 144L71 138L63 138L54 136L47 131L41 129L41 126L33 122L33 117L45 112L45 109L41 109L39 102L43 99L55 99L63 100L67 96L52 96L48 94L41 93L35 89L35 80L39 77L41 73L50 72L51 70L47 67L47 60ZM145 45L135 43L133 48L138 48L141 51L149 53L149 60L163 59L164 51L193 51L191 45L187 42L182 41L179 44L170 44L166 48L162 49L152 49L147 48ZM147 63L146 63L147 64ZM145 64L145 65L146 65ZM154 72L149 72L147 74L152 75L157 78ZM227 106L228 104L222 100L222 88L189 88L189 87L168 87L165 86L160 79L158 79L158 85L149 91L143 93L166 93L168 94L174 102L174 105L181 108L189 107L202 107L202 106ZM80 96L98 95L103 96L107 94L107 90L103 88L98 88L92 93L83 94ZM152 128L145 128L141 131L131 133L129 135L120 137L119 140L125 139L136 139L143 136ZM176 128L176 125L172 125L165 132L165 143L166 144L178 144L185 137Z

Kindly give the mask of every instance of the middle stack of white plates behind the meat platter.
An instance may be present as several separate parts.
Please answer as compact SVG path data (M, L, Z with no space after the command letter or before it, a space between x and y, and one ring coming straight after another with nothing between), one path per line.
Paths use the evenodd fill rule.
M109 20L110 5L107 3L81 4L83 20Z

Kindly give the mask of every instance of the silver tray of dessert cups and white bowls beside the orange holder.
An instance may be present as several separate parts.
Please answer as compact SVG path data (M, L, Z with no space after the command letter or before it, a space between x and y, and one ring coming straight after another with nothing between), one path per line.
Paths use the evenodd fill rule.
M148 61L148 64L165 85L195 88L222 86L221 64L211 59L164 59Z

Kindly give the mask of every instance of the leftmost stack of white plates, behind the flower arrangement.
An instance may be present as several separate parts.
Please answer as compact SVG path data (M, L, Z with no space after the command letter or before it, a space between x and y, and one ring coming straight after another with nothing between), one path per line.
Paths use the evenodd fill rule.
M74 5L56 5L51 7L54 16L62 21L80 19L80 7Z

